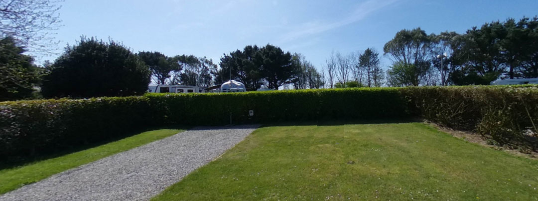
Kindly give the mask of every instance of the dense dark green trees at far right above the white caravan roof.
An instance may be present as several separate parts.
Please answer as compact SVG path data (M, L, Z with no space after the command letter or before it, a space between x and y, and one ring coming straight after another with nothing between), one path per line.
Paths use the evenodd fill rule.
M538 18L509 18L473 27L452 45L456 85L538 77Z

